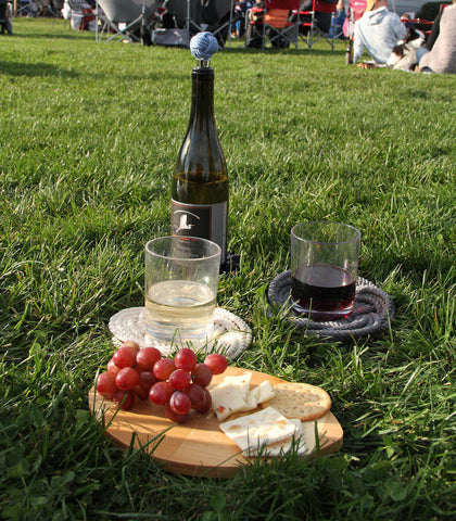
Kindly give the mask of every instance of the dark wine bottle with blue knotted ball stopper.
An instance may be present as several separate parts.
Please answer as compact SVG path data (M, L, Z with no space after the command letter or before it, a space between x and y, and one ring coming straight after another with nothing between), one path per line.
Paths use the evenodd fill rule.
M200 48L195 50L197 38ZM203 39L206 48L201 50ZM228 173L214 118L214 69L208 66L218 43L211 33L199 33L190 49L199 66L192 69L190 122L173 176L172 233L216 242L221 247L223 267L227 257Z

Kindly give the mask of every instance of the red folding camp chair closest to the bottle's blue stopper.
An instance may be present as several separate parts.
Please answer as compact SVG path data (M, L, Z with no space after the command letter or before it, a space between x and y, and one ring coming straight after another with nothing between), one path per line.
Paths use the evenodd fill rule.
M253 7L248 15L248 25L256 29L256 35L262 38L262 49L266 47L266 37L276 49L293 45L297 49L297 35L300 21L295 16L290 21L290 14L297 11L300 0L265 0L264 8ZM245 31L245 47L251 31Z

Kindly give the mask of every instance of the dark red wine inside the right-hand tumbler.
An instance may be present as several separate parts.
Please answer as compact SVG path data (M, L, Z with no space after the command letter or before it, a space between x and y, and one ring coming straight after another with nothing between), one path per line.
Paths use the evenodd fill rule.
M346 269L329 264L297 268L291 278L293 309L313 320L339 320L353 310L356 281Z

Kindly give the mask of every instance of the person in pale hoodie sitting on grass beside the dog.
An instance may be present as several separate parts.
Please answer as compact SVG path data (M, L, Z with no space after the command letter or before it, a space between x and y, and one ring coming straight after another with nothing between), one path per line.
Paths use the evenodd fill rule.
M367 0L365 13L355 23L353 63L360 59L366 49L376 64L385 64L405 34L401 18L388 10L388 0Z

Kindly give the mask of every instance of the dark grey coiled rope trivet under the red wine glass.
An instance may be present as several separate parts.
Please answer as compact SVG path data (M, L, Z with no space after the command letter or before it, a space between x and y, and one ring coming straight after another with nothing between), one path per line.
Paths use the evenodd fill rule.
M304 334L329 336L341 341L375 335L388 329L394 317L394 304L388 293L362 277L356 279L354 309L349 318L341 320L317 322L295 315L292 309L290 292L291 271L283 271L269 284L267 290L268 304L271 307L284 307L290 320Z

